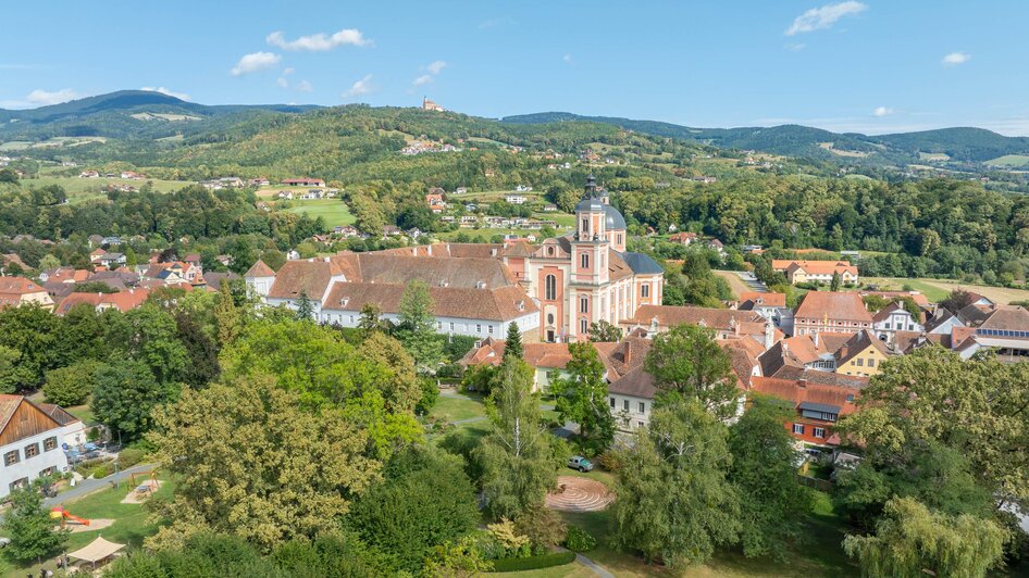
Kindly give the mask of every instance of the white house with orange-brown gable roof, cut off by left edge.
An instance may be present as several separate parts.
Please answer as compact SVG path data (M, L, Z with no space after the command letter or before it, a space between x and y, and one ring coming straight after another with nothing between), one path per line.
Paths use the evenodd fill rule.
M75 428L76 419L58 410L48 412L24 395L0 394L0 498L67 470L62 444L69 443L65 432Z

